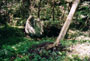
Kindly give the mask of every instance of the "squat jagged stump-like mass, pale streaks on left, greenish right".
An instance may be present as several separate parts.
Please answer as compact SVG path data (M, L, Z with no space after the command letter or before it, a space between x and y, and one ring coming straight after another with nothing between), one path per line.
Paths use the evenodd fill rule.
M43 21L39 18L34 19L33 16L29 16L25 24L25 32L31 36L41 36L43 34Z

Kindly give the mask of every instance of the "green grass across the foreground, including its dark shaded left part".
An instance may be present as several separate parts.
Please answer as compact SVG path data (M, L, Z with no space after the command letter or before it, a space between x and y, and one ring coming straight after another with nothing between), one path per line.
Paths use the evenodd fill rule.
M73 59L67 57L66 51L43 50L41 54L28 52L32 45L54 42L55 39L56 37L43 37L37 41L26 38L23 29L2 27L0 28L0 61L81 61L77 56ZM61 44L66 47L75 43L77 43L75 40L61 41Z

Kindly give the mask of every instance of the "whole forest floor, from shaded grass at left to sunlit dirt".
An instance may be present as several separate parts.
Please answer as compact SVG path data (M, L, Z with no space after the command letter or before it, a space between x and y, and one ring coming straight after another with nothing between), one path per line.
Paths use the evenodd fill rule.
M74 39L60 41L58 47L45 50L43 46L54 42L56 37L27 38L22 29L0 29L0 61L88 61L90 57L90 40L75 40L79 37L76 34Z

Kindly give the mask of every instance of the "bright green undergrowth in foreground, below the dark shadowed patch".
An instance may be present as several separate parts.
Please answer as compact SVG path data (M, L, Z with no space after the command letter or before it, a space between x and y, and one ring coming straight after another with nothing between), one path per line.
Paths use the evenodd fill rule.
M7 44L2 44L2 47L0 49L0 61L10 61L10 60L12 61L64 61L64 60L72 61L73 60L66 56L66 51L51 52L51 50L48 51L43 50L42 54L28 52L28 49L32 45L41 44L43 42L53 42L55 40L54 38L43 38L40 41L36 41L35 39L26 38L26 37L21 38L21 41L18 38L16 39L8 38L7 40L11 40L11 41L14 40L14 42L13 44L12 42L9 43L7 42ZM63 46L69 46L74 42L61 41L61 43ZM45 55L45 57L42 57L43 55Z

